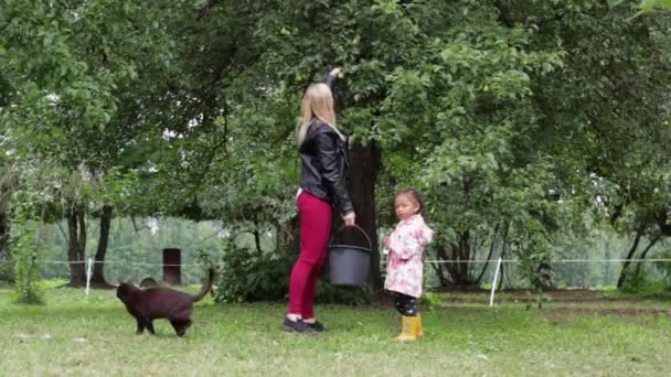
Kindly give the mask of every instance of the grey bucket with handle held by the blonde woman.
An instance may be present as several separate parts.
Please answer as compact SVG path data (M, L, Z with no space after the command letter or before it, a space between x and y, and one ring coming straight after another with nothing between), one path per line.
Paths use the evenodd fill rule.
M369 241L369 247L353 245L329 246L329 278L333 286L361 287L369 274L373 244L369 235L361 227L356 225L355 227L363 233ZM338 231L342 229L340 228Z

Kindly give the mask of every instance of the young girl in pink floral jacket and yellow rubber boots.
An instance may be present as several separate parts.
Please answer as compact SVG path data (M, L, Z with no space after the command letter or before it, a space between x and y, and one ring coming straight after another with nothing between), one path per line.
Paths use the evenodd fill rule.
M424 218L424 203L415 190L396 193L394 208L398 224L383 243L388 249L384 288L393 292L396 310L403 315L398 341L415 341L422 333L417 299L422 297L424 247L434 237Z

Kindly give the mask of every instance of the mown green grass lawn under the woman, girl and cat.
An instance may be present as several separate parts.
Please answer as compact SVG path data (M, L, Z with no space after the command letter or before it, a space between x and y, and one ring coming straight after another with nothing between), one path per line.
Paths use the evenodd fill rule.
M0 290L0 376L671 375L665 316L552 315L556 302L526 311L444 301L424 314L422 341L400 344L398 315L386 308L319 305L329 331L311 336L280 330L284 304L207 298L178 338L162 320L157 336L135 335L113 291L86 299L50 288L44 297L44 305L18 305Z

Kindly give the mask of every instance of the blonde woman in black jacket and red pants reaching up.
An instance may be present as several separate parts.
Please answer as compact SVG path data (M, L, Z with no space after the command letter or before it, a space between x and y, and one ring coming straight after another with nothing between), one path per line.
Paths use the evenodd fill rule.
M289 309L283 330L324 331L313 312L315 292L331 236L331 207L338 205L345 226L356 215L345 187L348 160L344 136L336 127L332 84L340 68L331 71L326 84L312 84L302 98L298 127L300 188L296 203L300 216L300 255L289 281Z

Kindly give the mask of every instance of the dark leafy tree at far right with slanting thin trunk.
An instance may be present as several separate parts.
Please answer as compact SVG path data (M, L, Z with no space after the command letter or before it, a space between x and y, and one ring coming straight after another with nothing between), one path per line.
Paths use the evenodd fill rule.
M557 35L564 41L567 69L550 77L540 97L547 119L564 123L556 146L568 153L560 161L582 172L573 175L583 183L573 179L568 187L584 187L599 216L633 236L626 259L647 237L645 256L667 227L669 90L663 83L669 65L662 56L669 39L660 31L669 20L624 22L627 10L604 4L560 14L561 21L546 23L545 34L547 42ZM544 15L553 19L547 11Z

